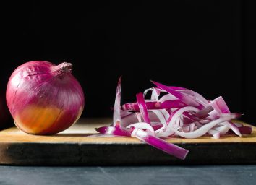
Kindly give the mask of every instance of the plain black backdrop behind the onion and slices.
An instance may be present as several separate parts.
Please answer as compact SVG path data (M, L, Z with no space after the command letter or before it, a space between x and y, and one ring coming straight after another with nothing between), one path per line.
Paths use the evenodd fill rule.
M250 1L8 1L1 3L1 90L31 60L70 61L82 116L111 116L150 79L222 95L254 122L255 3Z

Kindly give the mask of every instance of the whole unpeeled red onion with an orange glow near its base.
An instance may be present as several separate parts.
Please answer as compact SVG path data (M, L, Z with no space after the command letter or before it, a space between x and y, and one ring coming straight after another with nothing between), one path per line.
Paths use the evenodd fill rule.
M80 118L85 98L72 64L29 61L7 85L7 106L16 126L28 134L56 134Z

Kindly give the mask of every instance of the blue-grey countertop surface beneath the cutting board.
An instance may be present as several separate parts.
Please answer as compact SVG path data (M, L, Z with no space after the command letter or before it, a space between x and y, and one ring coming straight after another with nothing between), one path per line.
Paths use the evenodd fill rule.
M255 184L256 165L0 166L0 184Z

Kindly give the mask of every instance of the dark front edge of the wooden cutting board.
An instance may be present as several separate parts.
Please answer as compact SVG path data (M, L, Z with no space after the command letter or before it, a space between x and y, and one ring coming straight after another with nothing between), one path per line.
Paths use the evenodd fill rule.
M256 163L254 143L179 145L189 154L185 160L149 145L98 145L27 143L1 145L0 165L188 165ZM157 157L155 157L157 156Z

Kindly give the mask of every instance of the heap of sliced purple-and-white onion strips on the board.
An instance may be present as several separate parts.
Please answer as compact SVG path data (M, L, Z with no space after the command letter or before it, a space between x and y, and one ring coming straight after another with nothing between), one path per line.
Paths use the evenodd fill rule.
M164 138L192 139L212 135L218 139L224 134L241 137L242 134L252 132L252 127L232 121L241 114L231 113L221 96L215 100L206 100L197 92L184 87L166 86L158 82L153 84L156 87L136 95L137 102L121 106L120 77L116 89L113 124L96 130L101 134L137 137L182 160L189 151L166 142ZM148 96L150 98L146 99Z

